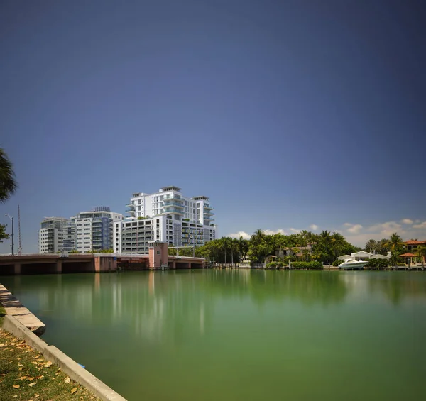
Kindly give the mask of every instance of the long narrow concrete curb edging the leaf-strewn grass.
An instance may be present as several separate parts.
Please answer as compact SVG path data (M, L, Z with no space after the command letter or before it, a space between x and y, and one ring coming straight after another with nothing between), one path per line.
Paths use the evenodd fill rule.
M31 330L27 329L21 322L9 314L6 314L3 322L3 329L9 333L23 339L31 348L43 353L43 356L53 363L56 363L67 375L80 383L85 388L97 395L104 401L126 401L117 392L109 388L105 383L96 378L92 373L82 368L77 362L65 355L55 346L50 346L42 339L38 338Z

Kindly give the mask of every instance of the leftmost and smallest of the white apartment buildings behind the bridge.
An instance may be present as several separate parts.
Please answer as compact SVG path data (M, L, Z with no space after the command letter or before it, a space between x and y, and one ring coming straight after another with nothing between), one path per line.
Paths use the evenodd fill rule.
M45 217L38 231L38 252L69 252L74 249L75 230L70 219Z

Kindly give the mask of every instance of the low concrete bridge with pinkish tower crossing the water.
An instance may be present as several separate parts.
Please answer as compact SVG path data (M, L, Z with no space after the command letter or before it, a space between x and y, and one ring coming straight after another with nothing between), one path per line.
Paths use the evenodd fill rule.
M204 258L169 256L167 244L153 243L148 255L60 253L0 256L0 275L100 273L123 270L204 268Z

